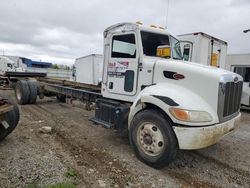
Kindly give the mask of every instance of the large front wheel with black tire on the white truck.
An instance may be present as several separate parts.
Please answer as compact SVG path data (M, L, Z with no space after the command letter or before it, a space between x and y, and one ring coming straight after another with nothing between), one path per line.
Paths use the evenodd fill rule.
M172 122L154 109L136 114L131 122L129 140L136 156L153 168L167 166L178 151Z

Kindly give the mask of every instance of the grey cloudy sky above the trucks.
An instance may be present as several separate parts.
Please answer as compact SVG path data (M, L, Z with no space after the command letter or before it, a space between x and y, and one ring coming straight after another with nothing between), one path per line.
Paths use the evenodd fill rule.
M250 0L0 0L0 54L72 64L102 53L103 30L118 22L202 31L250 53ZM168 14L167 14L168 10ZM166 19L168 15L168 19ZM166 21L167 20L167 21Z

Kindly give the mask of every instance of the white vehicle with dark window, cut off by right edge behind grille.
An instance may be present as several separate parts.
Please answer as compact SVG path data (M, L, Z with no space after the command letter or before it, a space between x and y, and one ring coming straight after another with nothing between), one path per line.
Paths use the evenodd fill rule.
M227 55L225 68L243 77L241 105L250 107L250 54Z

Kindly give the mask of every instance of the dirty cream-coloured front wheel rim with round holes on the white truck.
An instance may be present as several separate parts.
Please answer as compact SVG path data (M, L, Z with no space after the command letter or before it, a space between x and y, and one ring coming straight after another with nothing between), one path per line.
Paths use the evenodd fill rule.
M165 142L159 127L147 122L139 126L137 131L137 143L143 152L150 156L157 156L164 150Z

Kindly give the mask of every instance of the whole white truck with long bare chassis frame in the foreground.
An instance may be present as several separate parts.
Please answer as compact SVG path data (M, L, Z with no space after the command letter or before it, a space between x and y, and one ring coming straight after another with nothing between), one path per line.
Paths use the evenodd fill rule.
M180 42L166 30L112 25L104 31L103 59L101 86L21 80L16 98L35 103L37 95L54 93L86 106L94 102L92 121L128 130L136 156L155 168L169 164L179 149L208 147L239 126L242 77L184 62Z

